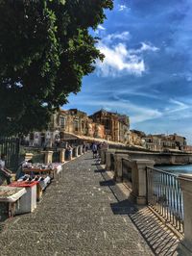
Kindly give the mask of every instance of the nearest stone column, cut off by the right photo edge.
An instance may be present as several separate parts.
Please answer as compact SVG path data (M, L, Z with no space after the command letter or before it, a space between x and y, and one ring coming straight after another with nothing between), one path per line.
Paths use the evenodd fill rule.
M192 255L192 174L180 174L180 188L183 195L184 239L178 246L180 256Z

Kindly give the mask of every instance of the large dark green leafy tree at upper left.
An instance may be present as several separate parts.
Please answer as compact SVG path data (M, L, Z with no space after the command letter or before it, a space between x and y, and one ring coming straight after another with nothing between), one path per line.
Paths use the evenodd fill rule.
M112 0L0 1L0 134L46 128L104 56L90 35Z

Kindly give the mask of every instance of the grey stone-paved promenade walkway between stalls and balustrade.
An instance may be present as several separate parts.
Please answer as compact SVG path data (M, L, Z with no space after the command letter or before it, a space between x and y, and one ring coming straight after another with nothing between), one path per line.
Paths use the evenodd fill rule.
M90 153L64 165L34 213L6 221L0 255L154 255L133 224L136 209L106 175Z

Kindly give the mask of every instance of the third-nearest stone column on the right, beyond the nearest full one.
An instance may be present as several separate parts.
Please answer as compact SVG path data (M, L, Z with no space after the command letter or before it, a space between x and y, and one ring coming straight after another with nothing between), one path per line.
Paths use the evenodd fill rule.
M123 166L122 166L122 159L128 158L126 154L115 154L114 155L114 180L116 182L123 181Z

